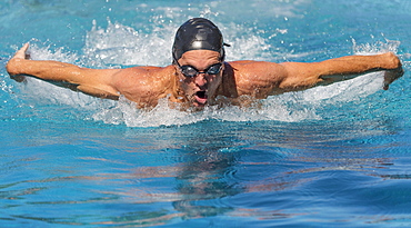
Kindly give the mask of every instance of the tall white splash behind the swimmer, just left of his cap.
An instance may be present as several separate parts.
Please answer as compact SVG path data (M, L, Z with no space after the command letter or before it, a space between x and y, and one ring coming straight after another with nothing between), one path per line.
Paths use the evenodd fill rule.
M171 62L171 46L174 27L161 26L148 34L131 27L111 22L106 29L93 21L87 33L86 62L94 67L117 66L164 66Z

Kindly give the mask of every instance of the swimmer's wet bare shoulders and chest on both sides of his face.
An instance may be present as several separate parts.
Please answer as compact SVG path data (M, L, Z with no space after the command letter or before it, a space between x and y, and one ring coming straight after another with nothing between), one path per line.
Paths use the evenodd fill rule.
M176 71L174 66L122 69L112 76L112 86L127 99L137 102L139 107L154 107L159 99L166 97L169 97L172 102L183 102L184 95L179 90ZM281 93L278 86L283 73L281 65L277 63L225 62L222 83L211 99L217 96L228 99L235 99L240 96L263 99L272 93Z

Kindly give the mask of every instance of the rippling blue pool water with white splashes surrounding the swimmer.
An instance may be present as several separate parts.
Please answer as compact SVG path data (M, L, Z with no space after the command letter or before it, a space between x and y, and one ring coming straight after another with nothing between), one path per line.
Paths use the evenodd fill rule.
M0 3L0 227L409 227L408 0ZM393 51L405 75L273 96L260 108L137 110L29 79L32 59L166 66L176 29L207 17L228 60L321 61Z

